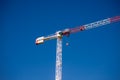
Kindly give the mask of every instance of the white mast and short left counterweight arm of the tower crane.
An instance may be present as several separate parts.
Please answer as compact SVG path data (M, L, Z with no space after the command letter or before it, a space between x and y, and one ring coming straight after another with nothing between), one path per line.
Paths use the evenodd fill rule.
M45 40L57 38L55 80L62 80L62 35L60 33L61 31L58 31L53 35L42 36L36 39L36 45L38 45L44 43Z

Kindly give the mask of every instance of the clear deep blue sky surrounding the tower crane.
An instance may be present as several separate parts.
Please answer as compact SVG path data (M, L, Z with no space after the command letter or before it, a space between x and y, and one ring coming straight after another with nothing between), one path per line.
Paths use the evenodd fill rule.
M119 0L1 0L0 80L55 80L56 40L35 39L117 15ZM64 37L63 80L120 80L119 34L116 22Z

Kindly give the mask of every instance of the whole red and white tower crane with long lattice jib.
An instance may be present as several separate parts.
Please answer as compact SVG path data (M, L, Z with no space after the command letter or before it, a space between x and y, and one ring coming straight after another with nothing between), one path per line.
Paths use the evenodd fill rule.
M63 36L69 36L72 33L89 30L92 28L104 26L118 21L120 21L120 16L115 16L115 17L99 20L93 23L85 24L82 26L78 26L75 28L70 28L70 29L68 28L61 31L57 31L54 34L48 36L38 37L35 41L36 45L42 44L48 40L57 39L55 80L62 80L62 37Z

